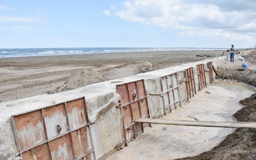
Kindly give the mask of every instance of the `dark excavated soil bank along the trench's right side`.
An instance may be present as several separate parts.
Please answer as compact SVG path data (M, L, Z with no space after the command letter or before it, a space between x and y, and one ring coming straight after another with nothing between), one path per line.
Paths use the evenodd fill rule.
M218 68L219 79L233 79L238 82L256 87L256 70L244 68ZM226 85L228 87L228 85ZM240 91L238 91L239 93ZM244 107L233 116L237 121L256 121L256 93L251 97L239 101ZM225 140L212 150L198 156L181 158L184 159L256 159L256 130L236 129Z

